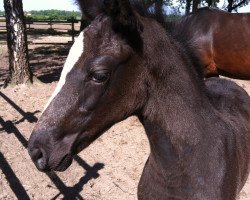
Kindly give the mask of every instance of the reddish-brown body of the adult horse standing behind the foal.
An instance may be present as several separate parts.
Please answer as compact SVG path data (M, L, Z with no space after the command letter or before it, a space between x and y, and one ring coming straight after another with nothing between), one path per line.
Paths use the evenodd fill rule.
M250 13L201 8L171 29L204 67L206 77L250 79Z

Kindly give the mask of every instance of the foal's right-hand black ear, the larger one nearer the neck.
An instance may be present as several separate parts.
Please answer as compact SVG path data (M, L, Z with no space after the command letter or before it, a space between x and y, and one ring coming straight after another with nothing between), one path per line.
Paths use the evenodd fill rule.
M134 50L141 52L143 42L140 33L143 28L129 0L104 0L104 9L113 20L113 30L120 34Z

